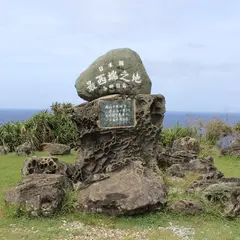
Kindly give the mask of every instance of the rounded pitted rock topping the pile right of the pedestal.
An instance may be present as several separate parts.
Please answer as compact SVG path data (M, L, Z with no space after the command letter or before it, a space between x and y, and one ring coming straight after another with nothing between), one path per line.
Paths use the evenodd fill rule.
M200 153L200 143L195 138L184 137L176 139L173 142L172 151L193 151L196 154Z

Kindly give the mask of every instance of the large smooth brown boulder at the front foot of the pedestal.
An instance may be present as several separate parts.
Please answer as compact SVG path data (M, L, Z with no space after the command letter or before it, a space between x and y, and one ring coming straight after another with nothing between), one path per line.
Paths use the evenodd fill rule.
M161 210L167 201L167 190L162 178L141 162L114 172L111 177L79 192L81 211L111 216L135 215Z

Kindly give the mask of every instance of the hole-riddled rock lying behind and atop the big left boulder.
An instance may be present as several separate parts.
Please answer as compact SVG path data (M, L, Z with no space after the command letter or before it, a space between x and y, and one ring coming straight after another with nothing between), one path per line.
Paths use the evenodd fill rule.
M22 176L30 174L61 174L68 178L72 178L75 172L75 166L65 163L56 157L31 157L27 158L21 169Z

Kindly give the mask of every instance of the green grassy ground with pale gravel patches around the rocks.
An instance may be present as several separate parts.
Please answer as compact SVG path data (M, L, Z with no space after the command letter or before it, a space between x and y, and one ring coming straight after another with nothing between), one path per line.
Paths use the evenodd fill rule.
M240 240L240 220L227 220L214 212L188 217L169 212L121 218L82 213L60 213L54 218L37 219L9 216L4 206L4 193L21 179L24 159L0 156L0 239ZM74 162L75 155L60 159ZM228 177L240 177L240 159L216 155L215 165ZM188 176L180 185L184 187L190 180ZM174 198L174 194L176 192L170 192L169 198Z

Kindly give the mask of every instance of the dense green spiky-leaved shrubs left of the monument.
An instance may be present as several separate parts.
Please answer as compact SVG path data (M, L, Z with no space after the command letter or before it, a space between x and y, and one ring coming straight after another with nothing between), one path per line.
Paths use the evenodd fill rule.
M42 143L56 142L74 147L77 141L77 128L68 117L70 103L54 103L51 112L41 111L25 122L0 125L0 145L10 151L24 142L30 142L37 150Z

